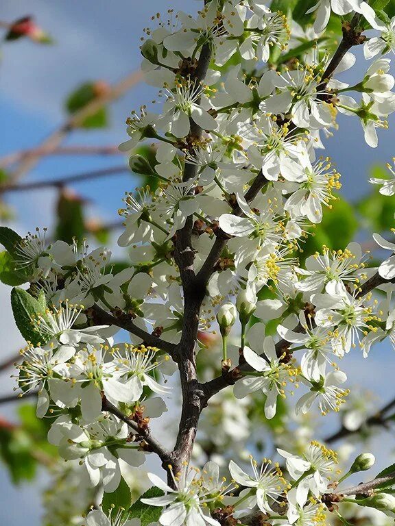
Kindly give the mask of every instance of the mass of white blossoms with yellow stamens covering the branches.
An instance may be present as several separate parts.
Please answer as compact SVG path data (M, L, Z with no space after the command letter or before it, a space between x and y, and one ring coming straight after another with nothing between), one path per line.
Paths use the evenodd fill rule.
M119 210L118 244L128 248L128 268L112 266L104 247L52 242L45 230L12 246L27 294L43 305L30 316L35 337L22 351L19 388L38 391L38 416L53 418L49 442L65 460L80 461L92 488L115 491L122 462L141 466L152 451L146 431L149 419L167 410L167 376L176 371L189 323L191 266L203 288L195 351L204 353L219 332L222 352L211 359L235 384L235 399L227 401L233 423L248 421L243 401L252 393L267 419L288 395L296 397L297 417L313 405L323 415L337 412L350 392L338 363L344 355L367 358L385 338L395 347L393 242L374 235L390 251L379 266L356 242L303 258L304 243L341 188L337 169L320 155L338 114L359 118L367 144L376 147L377 129L395 111L395 80L383 57L394 51L394 21L381 21L360 0L319 0L314 10L315 24L304 34L314 42L293 60L287 53L304 29L263 0L206 1L196 17L171 12L168 23L146 30L142 69L160 89L160 112L132 112L120 149L136 173L157 184L128 192ZM333 55L320 47L331 12L355 12L381 32L364 44L374 60L357 84L337 78L355 56L348 51L333 67ZM344 32L360 36L352 27ZM154 141L154 165L134 153L147 139ZM395 194L393 178L371 182L383 195ZM185 266L188 252L193 262ZM380 301L377 287L385 293ZM274 334L267 328L273 321ZM115 338L120 328L128 342ZM208 412L213 408L215 399ZM332 510L322 497L343 480L336 454L318 442L302 457L278 454L285 470L252 460L247 472L231 460L230 484L214 462L202 473L188 466L174 472L170 464L169 484L149 475L165 494L142 502L163 508L163 526L217 526L226 510L242 517L256 508L278 526L324 524ZM93 510L86 523L122 521Z

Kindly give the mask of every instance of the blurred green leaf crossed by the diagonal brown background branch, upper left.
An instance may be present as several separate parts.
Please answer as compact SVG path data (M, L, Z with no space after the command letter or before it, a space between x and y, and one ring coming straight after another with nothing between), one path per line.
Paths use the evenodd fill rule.
M100 95L101 84L99 82L85 82L77 88L66 101L66 109L69 114L74 114L96 99ZM108 125L107 109L103 106L92 115L87 116L80 127L82 128L104 128Z

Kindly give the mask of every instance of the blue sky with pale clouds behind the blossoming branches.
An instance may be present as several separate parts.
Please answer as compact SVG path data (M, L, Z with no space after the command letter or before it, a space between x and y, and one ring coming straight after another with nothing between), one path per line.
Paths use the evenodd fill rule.
M28 40L4 43L0 63L0 114L3 133L0 141L2 155L39 145L64 120L62 103L82 82L103 79L112 84L140 64L139 44L143 27L152 22L152 14L174 8L193 12L200 6L195 0L2 0L0 20L12 21L34 14L36 21L56 39L51 47L35 45ZM361 49L357 50L361 58ZM360 79L368 67L361 58L352 78ZM154 90L139 84L126 97L112 105L111 125L99 132L74 133L67 145L116 145L125 140L125 118L134 108L149 102ZM342 192L350 200L368 190L368 170L372 164L390 161L395 154L394 133L379 132L379 147L370 149L363 143L357 118L340 118L340 129L326 141L326 153L342 173ZM96 168L125 162L121 157L47 158L40 162L25 180L42 180L72 175ZM74 185L82 197L91 203L91 216L116 221L117 209L125 190L136 185L132 175L99 179L93 184ZM51 226L56 199L53 190L31 194L12 194L8 202L18 210L14 226L23 233L37 225ZM3 306L0 319L1 354L12 354L22 341L12 321L9 290L0 287ZM361 363L359 356L350 357L346 372L351 383L370 385L385 399L387 381L392 381L392 355L380 348L370 364ZM12 384L3 379L0 392L10 391ZM13 408L1 408L12 418ZM29 514L29 525L40 524L38 488L13 488L8 475L0 466L0 518L4 523L22 526ZM39 486L40 484L38 484Z

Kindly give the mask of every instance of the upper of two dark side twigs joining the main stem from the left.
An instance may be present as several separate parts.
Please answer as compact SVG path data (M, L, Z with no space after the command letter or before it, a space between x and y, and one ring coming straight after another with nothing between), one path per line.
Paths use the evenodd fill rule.
M133 321L128 317L127 314L121 313L120 316L113 316L106 312L99 305L93 305L87 312L88 316L93 317L93 320L97 325L115 325L121 329L131 332L135 336L138 336L143 342L151 347L158 347L158 349L169 353L173 356L175 345L170 342L166 342L154 334L137 327Z

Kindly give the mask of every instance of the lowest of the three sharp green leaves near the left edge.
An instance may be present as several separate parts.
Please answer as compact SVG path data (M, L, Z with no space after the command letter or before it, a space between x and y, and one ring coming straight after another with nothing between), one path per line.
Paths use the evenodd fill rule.
M32 297L29 292L23 290L23 288L13 288L11 291L11 306L16 327L18 327L23 338L27 342L31 342L32 345L45 344L48 338L35 331L32 326L32 318L37 316L37 314L45 313L42 297L38 300Z

